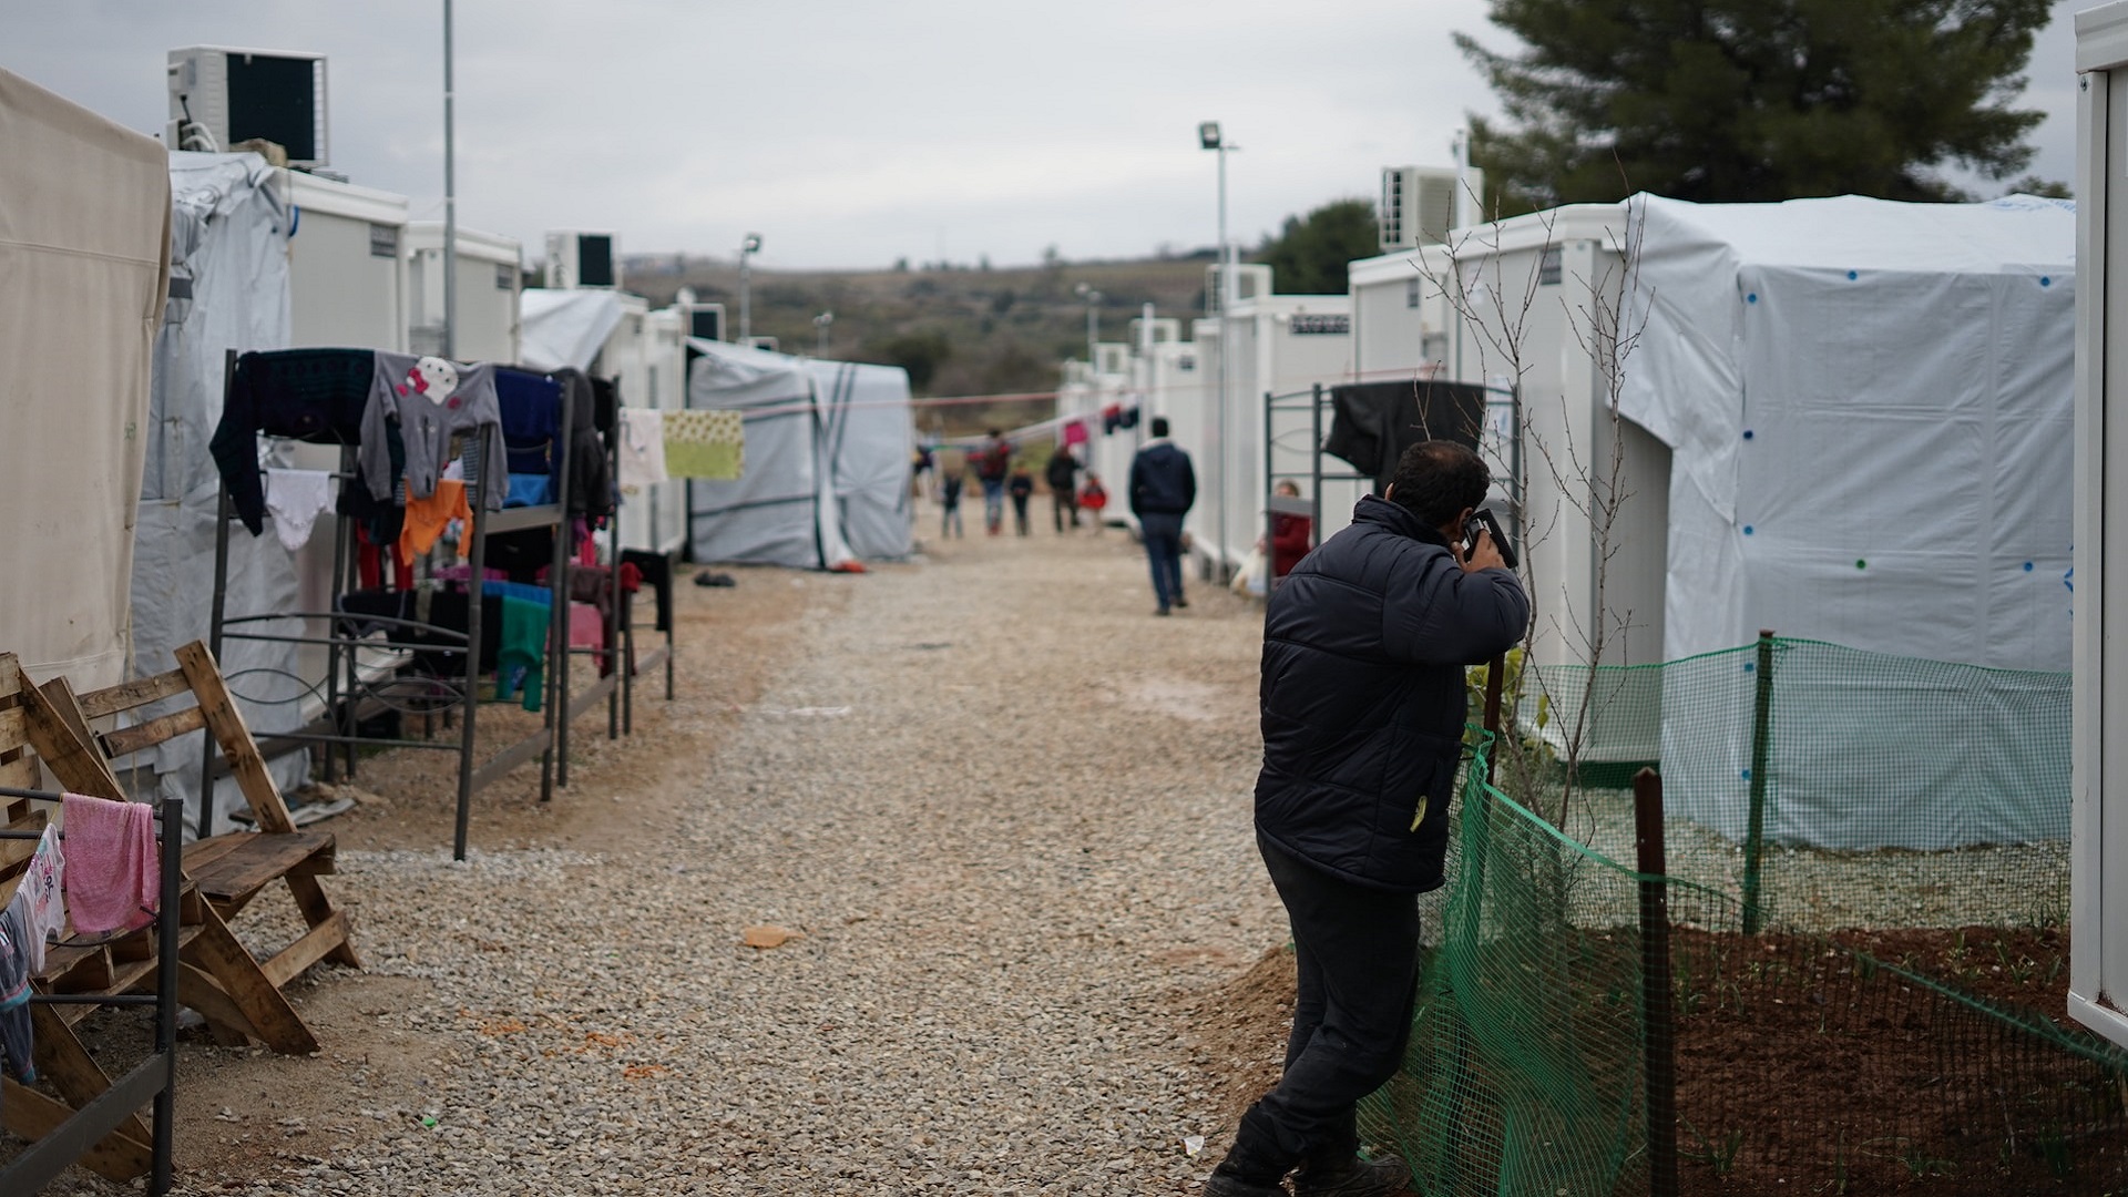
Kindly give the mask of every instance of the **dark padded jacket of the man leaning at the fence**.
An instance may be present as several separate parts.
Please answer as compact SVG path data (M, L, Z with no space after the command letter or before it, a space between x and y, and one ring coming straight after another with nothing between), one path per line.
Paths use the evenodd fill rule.
M1464 667L1513 647L1528 622L1513 573L1464 573L1439 530L1362 498L1270 592L1258 833L1349 882L1439 888Z

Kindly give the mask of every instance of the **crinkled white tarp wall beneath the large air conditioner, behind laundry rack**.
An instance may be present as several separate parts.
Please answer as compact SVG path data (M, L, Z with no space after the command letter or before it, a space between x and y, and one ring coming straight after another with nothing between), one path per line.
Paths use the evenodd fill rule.
M215 594L215 518L221 475L206 443L221 420L228 349L281 349L289 341L289 204L277 173L255 153L170 153L170 300L155 337L147 464L140 488L132 569L132 673L177 667L174 652L209 639ZM294 464L289 445L262 464ZM313 539L332 543L332 515L317 520ZM330 552L328 552L330 560ZM230 526L228 613L300 609L296 558L268 522L251 537ZM321 635L302 620L249 624L268 635ZM292 643L228 641L221 673L253 735L302 726L302 667ZM315 679L315 677L313 677ZM147 707L155 716L162 707ZM196 818L202 735L185 735L153 752L155 797L187 799ZM283 790L302 784L309 752L270 760ZM143 786L145 788L145 786ZM234 780L215 786L217 829L228 811L245 809Z

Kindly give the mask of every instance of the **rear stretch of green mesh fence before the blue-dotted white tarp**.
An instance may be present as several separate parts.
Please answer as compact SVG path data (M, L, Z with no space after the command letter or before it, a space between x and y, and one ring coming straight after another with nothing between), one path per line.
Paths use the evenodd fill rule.
M1768 637L1511 682L1500 786L1596 852L1632 858L1660 765L1670 875L1779 927L2066 922L2068 673Z

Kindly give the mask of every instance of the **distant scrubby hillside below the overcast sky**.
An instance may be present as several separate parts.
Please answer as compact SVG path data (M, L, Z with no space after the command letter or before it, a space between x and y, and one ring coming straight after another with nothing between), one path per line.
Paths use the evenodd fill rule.
M834 313L828 358L890 362L909 368L917 396L1051 392L1064 358L1085 358L1085 300L1079 283L1100 292L1100 339L1124 341L1130 322L1151 302L1156 315L1190 319L1202 313L1200 258L1141 262L1055 262L1015 268L915 268L875 273L751 270L753 334L775 337L785 351L815 354L824 311ZM702 302L721 302L738 324L738 266L702 258L660 268L636 260L628 290L653 307L694 288ZM985 422L1017 424L1024 405L934 409L947 430ZM926 428L932 420L926 417Z

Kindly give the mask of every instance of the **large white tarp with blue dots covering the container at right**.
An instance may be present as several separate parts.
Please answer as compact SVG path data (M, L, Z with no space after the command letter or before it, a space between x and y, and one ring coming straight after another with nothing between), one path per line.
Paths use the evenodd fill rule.
M1675 454L1666 654L1773 628L2066 671L2073 209L2026 196L1726 207L1636 196L1630 213L1645 222L1634 305L1647 324L1622 411ZM1947 848L1975 826L1990 841L2068 833L2066 794L2058 811L2028 794L2041 763L2066 752L2056 728L2019 716L2028 675L1990 694L1858 677L1798 690L1781 677L1777 667L1783 801L1770 835L1885 846L1856 841L1843 820L1853 786L1909 811L1892 846ZM1739 684L1736 701L1749 699ZM1973 735L1990 748L1971 769L1983 777L1945 788L1930 769L1883 767L1885 737L1924 726L1900 718L1915 703L1975 711ZM1690 733L1685 720L1732 716L1668 707L1666 748ZM1668 767L1664 780L1685 814L1734 835L1749 743L1732 748L1736 760L1702 758L1702 775ZM1877 769L1858 775L1858 760ZM1949 807L1975 792L2000 794L2000 809Z

